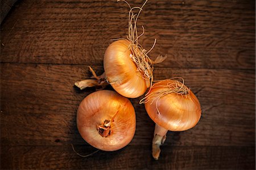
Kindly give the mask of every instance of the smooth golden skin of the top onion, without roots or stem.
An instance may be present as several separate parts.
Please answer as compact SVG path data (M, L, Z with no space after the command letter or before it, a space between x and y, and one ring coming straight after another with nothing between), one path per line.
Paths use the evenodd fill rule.
M108 82L122 96L136 98L147 90L147 84L137 65L131 60L127 40L117 40L109 45L104 55L104 70Z

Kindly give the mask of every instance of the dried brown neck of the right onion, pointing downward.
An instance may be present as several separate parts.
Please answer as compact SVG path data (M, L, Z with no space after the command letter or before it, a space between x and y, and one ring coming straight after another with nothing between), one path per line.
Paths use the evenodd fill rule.
M168 130L166 130L166 128L163 128L155 124L154 138L152 140L152 156L154 157L155 160L158 160L158 157L161 152L160 146L166 140L167 132Z

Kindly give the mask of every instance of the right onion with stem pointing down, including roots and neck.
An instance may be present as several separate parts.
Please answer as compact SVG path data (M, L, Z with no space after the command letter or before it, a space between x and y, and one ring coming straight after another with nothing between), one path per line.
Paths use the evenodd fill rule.
M170 131L184 131L196 126L201 117L201 107L195 94L177 80L156 82L140 103L145 103L147 114L156 123L152 155L157 160L160 145Z

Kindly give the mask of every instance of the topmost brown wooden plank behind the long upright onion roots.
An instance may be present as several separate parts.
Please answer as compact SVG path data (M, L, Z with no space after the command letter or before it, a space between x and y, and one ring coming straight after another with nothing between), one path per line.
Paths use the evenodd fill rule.
M143 1L130 2L141 6ZM255 69L255 1L149 1L138 24L156 67ZM1 26L1 61L102 65L110 39L127 35L127 6L115 1L25 0Z

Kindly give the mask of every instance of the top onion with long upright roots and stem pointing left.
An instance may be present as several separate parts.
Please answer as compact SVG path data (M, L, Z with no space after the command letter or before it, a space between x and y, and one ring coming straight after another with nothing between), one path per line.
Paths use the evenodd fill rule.
M120 0L124 1L124 0ZM126 1L124 1L126 2ZM142 7L133 7L129 5L129 34L126 39L118 39L105 51L104 55L104 70L103 76L94 76L96 80L83 80L75 83L80 89L91 86L101 86L104 88L106 83L112 85L115 91L122 96L129 98L137 98L142 96L152 85L153 81L153 64L161 63L167 56L158 56L153 61L148 57L148 53L154 48L152 45L150 50L146 50L139 44L138 39L144 34L143 32L138 35L137 20L139 14L142 11L143 6L147 0L143 3ZM138 14L134 14L133 10L138 9ZM92 69L90 69L92 71ZM92 71L92 73L95 73Z

